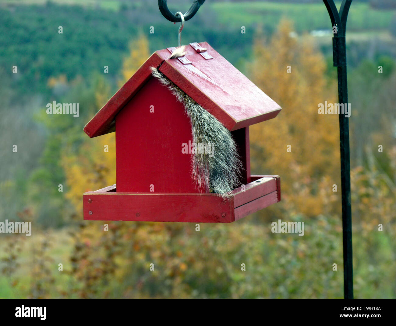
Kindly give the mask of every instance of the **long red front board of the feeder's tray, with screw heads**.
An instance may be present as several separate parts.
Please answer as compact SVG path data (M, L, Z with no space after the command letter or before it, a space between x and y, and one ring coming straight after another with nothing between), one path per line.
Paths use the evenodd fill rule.
M232 201L223 204L223 200L213 194L86 192L83 203L85 220L197 223L234 221Z

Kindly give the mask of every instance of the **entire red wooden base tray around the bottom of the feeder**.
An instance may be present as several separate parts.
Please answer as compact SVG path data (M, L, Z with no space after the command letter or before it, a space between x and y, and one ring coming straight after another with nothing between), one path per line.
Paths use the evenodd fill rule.
M117 192L116 185L83 194L84 220L230 223L280 201L278 175L252 175L223 200L217 194Z

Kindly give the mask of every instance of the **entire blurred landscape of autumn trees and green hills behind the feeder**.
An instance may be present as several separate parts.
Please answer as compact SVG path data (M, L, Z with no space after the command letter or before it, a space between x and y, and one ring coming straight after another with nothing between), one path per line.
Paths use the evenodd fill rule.
M105 222L82 220L81 195L87 188L114 183L114 151L103 155L103 143L114 146L114 134L88 139L82 129L118 81L139 66L135 58L147 55L144 40L128 48L129 40L139 34L136 26L145 31L155 26L156 33L148 36L151 51L175 44L177 28L164 21L156 4L124 2L117 11L120 2L101 1L101 8L111 6L111 12L93 9L94 2L86 4L0 8L5 22L0 26L4 44L0 64L6 67L0 79L0 155L8 167L0 171L0 220L35 223L31 237L2 237L0 297L342 298L340 185L338 192L331 191L339 161L337 134L328 134L327 124L310 111L316 112L316 103L326 98L326 92L336 96L333 82L324 77L327 66L327 76L334 81L332 63L326 65L308 43L294 46L297 39L287 31L278 42L274 38L277 51L256 46L257 68L251 78L284 107L284 116L273 121L273 132L268 121L264 131L257 126L251 134L257 172L282 169L282 180L288 180L276 209L230 225L201 224L200 232L194 224L139 222L110 222L109 231L103 231ZM370 21L376 25L367 28L385 28L392 14L369 11L367 4L354 5L350 28L364 27L368 17L375 18ZM253 31L265 17L272 25L262 29L272 32L286 13L298 21L298 31L328 28L322 4L304 6L208 2L186 23L183 43L207 40L243 67L253 52L253 32L241 36L240 26ZM57 34L59 25L63 35ZM294 74L285 77L289 61ZM9 67L15 62L19 72L12 75ZM105 77L104 65L110 71ZM378 73L379 65L383 74ZM376 58L348 73L351 143L356 151L352 166L357 166L351 182L355 296L395 298L394 61ZM44 103L80 103L80 117L46 115L45 105L32 98L38 92ZM22 93L29 99L26 107L19 98ZM311 105L304 107L307 102ZM307 130L312 121L314 126ZM332 128L338 131L336 122ZM287 166L290 162L271 148L275 143L265 132L278 138L279 148L287 137L300 144L293 164ZM13 143L22 149L19 156L10 154ZM377 151L378 144L384 152ZM318 152L310 151L310 146ZM59 184L63 192L58 191ZM278 219L305 222L305 236L272 233L271 222ZM379 224L383 231L378 231ZM63 271L58 270L59 263ZM154 271L149 264L154 264ZM246 271L241 264L246 264Z

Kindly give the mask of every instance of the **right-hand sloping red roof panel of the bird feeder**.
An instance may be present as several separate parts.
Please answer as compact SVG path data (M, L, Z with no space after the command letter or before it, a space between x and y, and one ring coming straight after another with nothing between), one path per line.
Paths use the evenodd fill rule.
M206 60L188 45L186 58L166 60L160 71L191 98L207 109L228 130L236 130L276 117L281 110L267 94L254 85L207 42L213 59Z

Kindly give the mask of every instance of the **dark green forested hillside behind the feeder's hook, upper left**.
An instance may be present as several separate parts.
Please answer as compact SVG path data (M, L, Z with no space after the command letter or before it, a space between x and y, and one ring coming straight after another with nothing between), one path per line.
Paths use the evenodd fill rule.
M69 81L77 76L89 78L92 72L103 73L104 66L109 67L107 77L114 89L128 43L139 32L148 34L150 26L155 27L155 33L148 34L151 52L177 45L176 26L157 13L158 6L146 4L116 12L53 3L0 7L4 22L0 25L4 51L0 66L17 65L18 78L11 85L27 95L40 92L48 96L50 77L65 75ZM207 40L216 45L228 40L238 44L238 53L246 54L252 33L244 38L241 47L239 31L213 30L215 19L207 16L209 25L200 14L189 21L189 27L183 30L183 42ZM63 34L58 33L59 26L63 27ZM231 59L237 57L232 55ZM15 77L10 68L6 73Z

